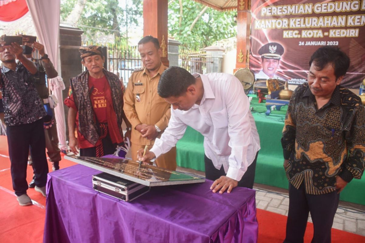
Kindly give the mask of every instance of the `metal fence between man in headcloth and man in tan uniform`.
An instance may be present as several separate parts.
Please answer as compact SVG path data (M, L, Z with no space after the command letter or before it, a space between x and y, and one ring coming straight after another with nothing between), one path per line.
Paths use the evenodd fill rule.
M117 46L117 45L102 45L104 47L104 54L107 55L106 69L116 74L123 84L127 87L128 78L131 76L133 70L142 67L142 60L139 56L137 46ZM84 44L83 46L87 46ZM83 70L86 70L83 67Z

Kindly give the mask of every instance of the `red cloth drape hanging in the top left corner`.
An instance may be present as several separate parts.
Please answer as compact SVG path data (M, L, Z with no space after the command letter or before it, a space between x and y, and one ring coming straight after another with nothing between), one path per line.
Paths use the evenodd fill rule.
M28 12L26 0L1 0L0 20L14 21Z

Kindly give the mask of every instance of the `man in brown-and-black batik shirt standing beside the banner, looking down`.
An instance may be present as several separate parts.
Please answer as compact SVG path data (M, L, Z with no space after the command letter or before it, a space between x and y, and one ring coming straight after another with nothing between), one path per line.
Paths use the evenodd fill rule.
M281 143L289 180L289 212L284 242L303 242L308 212L312 242L331 242L339 192L361 179L365 155L365 109L341 83L350 59L325 46L310 59L308 83L294 91Z

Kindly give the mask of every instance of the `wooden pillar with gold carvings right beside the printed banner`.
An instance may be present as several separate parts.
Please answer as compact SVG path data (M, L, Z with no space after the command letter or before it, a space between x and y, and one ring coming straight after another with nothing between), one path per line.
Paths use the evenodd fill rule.
M250 57L250 25L251 25L251 0L237 1L237 59L238 68L249 67Z

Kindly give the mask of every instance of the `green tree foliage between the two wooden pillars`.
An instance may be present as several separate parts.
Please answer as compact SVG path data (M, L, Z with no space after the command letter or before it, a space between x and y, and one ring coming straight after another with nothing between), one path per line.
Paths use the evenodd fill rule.
M235 15L237 11L221 12L193 0L170 1L169 36L180 41L183 47L198 50L217 40L236 36Z

